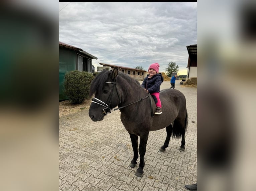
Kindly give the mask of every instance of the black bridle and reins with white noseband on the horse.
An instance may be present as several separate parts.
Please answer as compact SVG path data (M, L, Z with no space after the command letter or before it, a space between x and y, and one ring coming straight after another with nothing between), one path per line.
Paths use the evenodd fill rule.
M111 111L115 111L115 110L117 110L117 109L121 109L121 108L127 107L127 106L129 106L129 105L131 105L131 104L133 104L133 103L136 103L136 102L138 102L138 101L142 101L143 99L145 99L145 98L147 98L147 97L150 97L150 96L149 96L150 94L148 93L148 95L147 95L146 97L143 97L143 98L139 99L138 101L132 102L132 103L130 103L130 104L128 104L128 105L125 105L125 106L122 106L122 107L118 107L118 108L116 108L116 109L111 109L111 108L110 108L110 104L111 104L111 102L112 102L112 96L113 96L113 92L114 92L114 87L116 87L116 80L115 80L115 82L106 82L106 84L113 84L112 89L111 89L111 93L110 93L110 95L109 95L110 99L109 99L109 97L108 97L109 103L107 104L107 103L103 102L102 100L100 100L100 99L98 99L98 98L96 98L96 97L92 98L92 102L93 102L93 103L97 103L97 104L102 105L102 106L104 107L102 110L103 110L103 113L105 113L106 115L107 115L108 113L111 113ZM120 99L120 96L119 96L119 94L118 94L117 87L116 87L115 89L116 89L116 93L117 93L117 96L118 96L118 99L119 99L119 104L120 104L120 103L121 103L121 99ZM108 100L108 99L107 99L107 100ZM150 97L150 101L151 101L151 97ZM152 111L151 111L151 115L152 115Z

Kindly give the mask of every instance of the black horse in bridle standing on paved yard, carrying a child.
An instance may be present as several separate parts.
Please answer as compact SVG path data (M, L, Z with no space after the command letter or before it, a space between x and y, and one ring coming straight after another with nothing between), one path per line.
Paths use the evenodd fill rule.
M180 150L185 150L185 132L187 128L187 110L185 96L178 90L165 89L160 92L162 114L154 115L156 110L155 102L151 104L151 95L148 94L140 83L129 77L127 74L104 70L99 73L91 83L90 94L92 103L89 109L89 116L93 121L101 121L104 116L113 108L121 111L121 121L129 132L133 159L130 167L137 164L138 136L140 137L139 154L140 163L136 176L143 175L145 165L144 155L149 131L166 128L167 136L163 146L159 149L164 152L168 147L171 133L173 138L182 138ZM152 107L152 109L151 109Z

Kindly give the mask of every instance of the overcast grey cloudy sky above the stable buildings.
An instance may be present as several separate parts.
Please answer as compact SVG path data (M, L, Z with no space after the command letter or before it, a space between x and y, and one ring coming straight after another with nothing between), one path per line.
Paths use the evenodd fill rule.
M66 6L66 7L65 7ZM59 2L59 41L100 63L145 70L168 63L187 74L186 46L197 44L197 2Z

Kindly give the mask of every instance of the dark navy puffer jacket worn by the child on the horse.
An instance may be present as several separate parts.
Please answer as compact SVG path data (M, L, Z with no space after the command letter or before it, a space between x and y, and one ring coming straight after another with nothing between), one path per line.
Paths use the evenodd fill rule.
M152 78L148 78L148 76L149 74L146 78L144 78L141 87L148 90L149 94L152 94L154 92L160 92L160 85L163 82L162 74L156 74Z

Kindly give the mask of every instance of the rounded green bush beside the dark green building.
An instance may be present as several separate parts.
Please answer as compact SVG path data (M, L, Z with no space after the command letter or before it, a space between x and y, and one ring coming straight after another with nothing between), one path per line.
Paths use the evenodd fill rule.
M94 76L84 71L68 71L65 74L65 94L72 104L82 103L88 98L91 82Z

